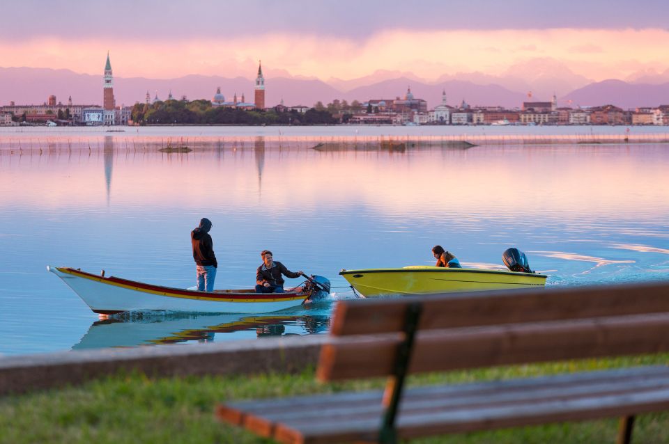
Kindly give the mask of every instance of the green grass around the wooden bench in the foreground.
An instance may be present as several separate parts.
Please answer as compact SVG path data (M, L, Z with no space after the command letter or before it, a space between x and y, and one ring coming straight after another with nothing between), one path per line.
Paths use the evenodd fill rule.
M508 379L579 370L669 363L669 355L414 376L410 386ZM267 443L217 422L213 408L231 399L382 388L385 381L321 384L314 371L263 376L151 378L118 374L83 386L0 398L0 443ZM441 436L415 443L614 443L617 420ZM640 415L634 443L669 443L669 415Z

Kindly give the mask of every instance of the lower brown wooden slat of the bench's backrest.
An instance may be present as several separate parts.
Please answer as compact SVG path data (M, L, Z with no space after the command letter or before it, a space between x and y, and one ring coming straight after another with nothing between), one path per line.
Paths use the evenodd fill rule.
M391 374L401 336L334 338L323 345L322 381ZM437 352L438 351L438 352ZM669 351L669 314L452 328L416 335L411 373Z

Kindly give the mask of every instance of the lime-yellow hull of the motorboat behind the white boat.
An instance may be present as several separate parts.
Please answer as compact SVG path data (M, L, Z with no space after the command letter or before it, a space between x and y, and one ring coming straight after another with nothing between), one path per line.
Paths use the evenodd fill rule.
M543 274L487 269L404 267L342 270L339 274L365 297L535 288L546 284Z

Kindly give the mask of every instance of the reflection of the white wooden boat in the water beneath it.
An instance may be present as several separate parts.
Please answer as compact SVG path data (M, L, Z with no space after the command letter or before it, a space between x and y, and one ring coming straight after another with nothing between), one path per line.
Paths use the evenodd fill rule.
M134 314L93 322L72 349L305 335L323 333L329 325L327 315Z

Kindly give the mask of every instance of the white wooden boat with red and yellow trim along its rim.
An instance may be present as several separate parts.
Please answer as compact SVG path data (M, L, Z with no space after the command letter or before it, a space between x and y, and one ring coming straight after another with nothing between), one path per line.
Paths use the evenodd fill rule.
M168 310L208 313L268 313L299 306L330 291L322 276L286 293L256 293L255 290L199 292L163 287L134 280L99 276L68 267L47 270L61 278L93 312L102 315L134 310Z

